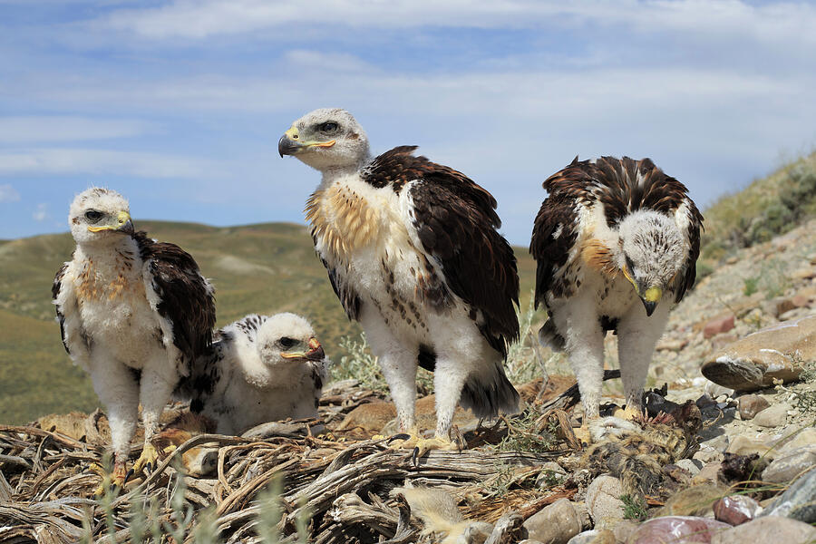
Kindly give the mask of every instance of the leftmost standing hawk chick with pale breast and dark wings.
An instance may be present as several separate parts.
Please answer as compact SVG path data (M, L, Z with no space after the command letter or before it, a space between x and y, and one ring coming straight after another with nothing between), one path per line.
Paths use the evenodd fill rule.
M134 469L155 466L161 411L211 342L213 289L181 248L135 232L115 191L85 190L68 219L76 249L54 278L53 303L65 350L108 413L112 482L121 484L140 403L144 448Z

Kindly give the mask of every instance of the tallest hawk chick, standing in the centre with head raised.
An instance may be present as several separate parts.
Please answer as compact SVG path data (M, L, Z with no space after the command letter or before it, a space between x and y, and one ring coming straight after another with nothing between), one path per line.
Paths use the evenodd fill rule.
M519 335L516 258L500 236L496 200L464 174L413 156L413 146L372 158L355 118L322 109L278 142L320 170L306 218L346 314L363 325L396 405L403 447L452 449L461 402L479 417L517 409L504 374ZM434 373L436 434L414 418L417 364Z

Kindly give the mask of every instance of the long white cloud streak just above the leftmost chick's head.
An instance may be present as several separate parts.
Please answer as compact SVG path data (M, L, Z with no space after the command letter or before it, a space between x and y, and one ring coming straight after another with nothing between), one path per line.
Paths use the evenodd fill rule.
M209 178L219 162L138 151L33 149L0 151L0 176L12 174L129 175L143 178Z

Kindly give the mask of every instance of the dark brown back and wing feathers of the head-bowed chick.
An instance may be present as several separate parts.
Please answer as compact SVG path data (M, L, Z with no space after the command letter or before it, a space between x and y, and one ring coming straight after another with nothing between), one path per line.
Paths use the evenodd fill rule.
M667 176L652 160L602 157L593 163L576 157L567 168L545 180L543 187L549 197L541 205L530 244L530 253L538 261L537 303L542 302L553 287L558 287L555 270L567 262L569 249L578 234L576 205L591 206L595 202L603 204L609 228L616 228L622 219L638 209L652 209L674 219L677 209L685 204L688 227L684 234L690 250L682 278L676 284L675 300L683 298L685 291L694 285L703 216L688 197L685 185ZM559 225L563 231L556 240L552 235Z

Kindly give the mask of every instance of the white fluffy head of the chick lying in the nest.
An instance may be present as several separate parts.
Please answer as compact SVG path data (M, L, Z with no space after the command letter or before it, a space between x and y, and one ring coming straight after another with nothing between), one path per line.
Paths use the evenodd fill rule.
M295 314L269 317L257 331L257 350L267 367L284 370L305 361L323 361L323 346L309 322Z

